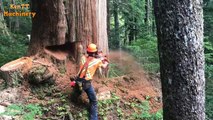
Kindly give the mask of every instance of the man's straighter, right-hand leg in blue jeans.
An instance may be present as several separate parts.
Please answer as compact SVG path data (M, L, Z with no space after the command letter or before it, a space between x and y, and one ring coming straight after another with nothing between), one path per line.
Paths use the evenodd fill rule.
M97 99L96 93L91 85L88 89L85 90L90 102L90 120L98 120L98 106L97 106Z

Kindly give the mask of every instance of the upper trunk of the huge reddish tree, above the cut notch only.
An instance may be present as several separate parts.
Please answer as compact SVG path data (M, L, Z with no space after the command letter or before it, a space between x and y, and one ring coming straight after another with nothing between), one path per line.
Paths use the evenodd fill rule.
M42 52L48 46L68 45L75 53L79 44L93 42L108 52L106 20L100 14L106 9L106 0L32 0L32 39L29 55ZM102 8L100 9L101 6ZM100 27L102 26L102 27ZM99 42L102 41L102 42Z

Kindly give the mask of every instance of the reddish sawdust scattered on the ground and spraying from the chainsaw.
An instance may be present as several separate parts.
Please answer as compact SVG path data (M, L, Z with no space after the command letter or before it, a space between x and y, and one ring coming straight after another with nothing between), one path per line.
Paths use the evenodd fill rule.
M54 53L54 56L60 57L63 52ZM48 65L49 71L53 72L56 76L56 88L52 90L70 95L72 87L70 86L70 76L77 73L77 66L72 61L66 61L66 72L58 74L60 71L56 69L56 66L45 58L39 58L37 61ZM97 96L100 93L114 93L119 96L121 101L128 101L137 99L140 101L147 100L150 103L151 112L156 112L162 108L160 82L158 77L145 73L140 67L140 64L128 53L123 51L112 51L109 54L109 61L111 64L116 64L116 69L121 71L122 75L114 74L114 77L99 78L95 77L92 84L96 90ZM21 93L25 100L23 103L41 103L45 104L51 97L44 97L43 100L38 99L32 93L28 83L24 83L25 87L21 87ZM52 89L51 86L48 89ZM56 95L55 94L55 95ZM54 95L54 94L53 94ZM26 98L27 99L26 101ZM88 102L88 98L85 93L82 97L83 101ZM70 103L71 106L73 106ZM82 107L81 105L79 108ZM73 107L73 110L76 106ZM54 114L54 113L53 113Z

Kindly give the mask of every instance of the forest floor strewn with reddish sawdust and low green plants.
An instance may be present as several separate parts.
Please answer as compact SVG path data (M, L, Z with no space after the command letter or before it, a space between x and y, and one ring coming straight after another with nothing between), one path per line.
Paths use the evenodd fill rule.
M55 55L61 56L61 54L63 53L58 52ZM112 64L110 78L96 77L92 81L99 99L100 119L140 119L141 116L137 115L143 112L140 109L145 109L141 107L147 107L150 114L158 112L162 108L159 77L147 74L126 52L110 52L109 59ZM52 64L43 59L44 62ZM0 97L15 93L10 103L41 105L43 115L37 116L39 119L87 119L88 98L85 92L77 103L72 102L73 98L71 98L72 87L69 85L69 78L76 73L73 69L75 67L71 61L67 61L66 72L57 74L55 84L32 86L25 82L18 88L9 88L10 90L7 89L6 92L3 90ZM60 72L53 66L49 69L53 73ZM148 106L141 106L143 101L147 101ZM132 116L133 113L137 114Z

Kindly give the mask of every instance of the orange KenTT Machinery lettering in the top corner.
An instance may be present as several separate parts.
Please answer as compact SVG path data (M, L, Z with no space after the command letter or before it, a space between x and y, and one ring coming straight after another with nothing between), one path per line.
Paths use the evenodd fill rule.
M2 6L2 5L0 5ZM30 7L30 4L10 4L9 10L8 11L3 11L0 9L0 12L3 14L5 17L32 17L34 18L36 16L36 12L30 12L27 11Z

